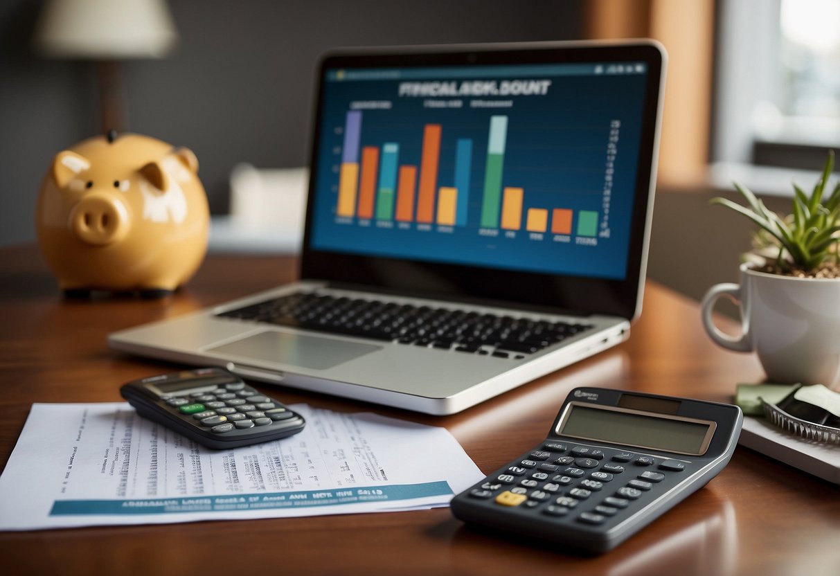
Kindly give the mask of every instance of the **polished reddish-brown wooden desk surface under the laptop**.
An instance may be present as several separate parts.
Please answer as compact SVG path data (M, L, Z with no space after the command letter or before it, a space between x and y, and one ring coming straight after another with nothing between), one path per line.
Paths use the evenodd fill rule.
M32 402L119 401L118 385L171 364L109 350L109 332L291 280L288 258L212 256L168 300L64 301L34 247L0 250L0 465ZM727 401L761 371L715 347L699 307L654 283L627 343L454 416L423 416L268 389L287 402L373 410L444 426L484 472L532 448L568 390L604 385ZM263 387L258 385L258 387ZM0 533L12 572L56 574L840 573L840 490L738 448L705 489L616 550L577 558L465 528L448 509L160 526Z

